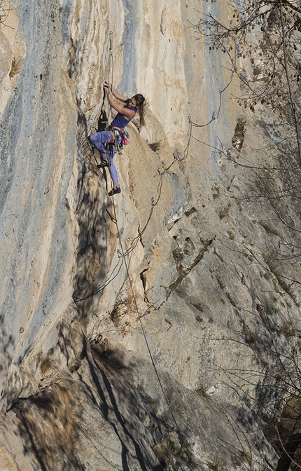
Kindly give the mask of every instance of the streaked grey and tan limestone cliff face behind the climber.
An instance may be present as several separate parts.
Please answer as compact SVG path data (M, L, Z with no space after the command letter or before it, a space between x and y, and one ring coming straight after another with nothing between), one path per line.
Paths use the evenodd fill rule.
M200 1L6 3L0 469L273 469L301 299L298 198L275 202L289 163L266 170L276 116L237 104L195 40ZM113 198L87 140L112 117L105 80L148 101Z

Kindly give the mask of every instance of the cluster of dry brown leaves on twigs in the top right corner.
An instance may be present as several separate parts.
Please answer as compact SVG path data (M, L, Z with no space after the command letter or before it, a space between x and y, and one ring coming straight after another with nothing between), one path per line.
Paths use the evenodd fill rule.
M242 84L239 104L265 104L293 125L301 165L301 11L288 0L243 0L228 25L204 13L194 25L209 50L221 50Z

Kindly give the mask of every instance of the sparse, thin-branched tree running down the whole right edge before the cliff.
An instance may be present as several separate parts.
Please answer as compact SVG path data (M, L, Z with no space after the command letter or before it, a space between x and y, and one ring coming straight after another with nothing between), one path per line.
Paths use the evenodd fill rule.
M243 163L231 150L221 149L221 153L236 166L253 170L253 186L247 196L241 196L241 200L265 200L269 211L274 214L272 226L265 227L265 230L274 234L275 240L279 237L279 247L274 245L267 253L260 252L257 245L255 250L247 245L240 245L237 250L255 259L262 266L262 273L269 267L268 276L274 280L274 294L269 296L271 300L276 299L275 295L289 294L299 306L293 294L294 287L300 285L297 274L295 278L286 275L282 267L291 260L299 268L301 253L301 230L294 219L296 214L300 214L301 196L300 2L233 1L228 5L230 19L227 24L210 13L210 4L204 8L200 22L193 27L212 53L219 50L228 56L230 68L241 82L239 104L251 111L255 111L257 106L269 107L274 112L279 130L279 139L271 142L272 158L269 163L262 159L257 167L250 162ZM243 144L245 123L244 120L237 123L232 140L237 153ZM290 211L288 207L293 209ZM231 240L231 244L235 245L235 240ZM280 244L285 245L284 251L280 250ZM252 291L251 286L250 289ZM258 300L258 293L253 299ZM276 471L297 471L301 469L300 319L288 316L286 322L274 325L270 315L275 309L273 302L268 301L267 295L262 296L256 312L250 311L260 320L258 332L254 332L247 323L244 325L245 341L253 351L256 369L232 370L225 374L228 385L238 395L239 381L247 381L255 388L254 397L241 395L241 399L251 400L266 423L265 435L279 454ZM232 334L231 340L238 332Z

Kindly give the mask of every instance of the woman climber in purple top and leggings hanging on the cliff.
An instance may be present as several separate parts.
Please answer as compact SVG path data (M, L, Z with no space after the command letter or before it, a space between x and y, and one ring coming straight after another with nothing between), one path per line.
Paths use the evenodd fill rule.
M120 193L121 191L118 183L117 170L113 163L114 153L116 150L115 136L113 135L113 130L118 131L118 142L116 142L116 144L120 144L123 129L128 123L130 123L130 121L132 121L137 111L139 111L140 125L143 126L145 124L145 98L140 93L134 95L132 98L124 97L116 90L116 88L111 85L111 83L107 81L104 82L104 90L106 90L106 96L108 98L109 104L113 109L116 109L117 114L109 125L108 131L94 132L94 134L89 137L89 140L91 144L96 147L96 149L100 152L100 155L102 157L102 163L97 165L97 167L109 167L113 180L113 189L111 189L111 191L109 192L109 196L113 196L116 195L116 193ZM122 106L116 103L112 95L114 95L117 100L120 100L120 102L124 102L125 104ZM104 144L110 145L105 146ZM109 150L107 150L108 147Z

